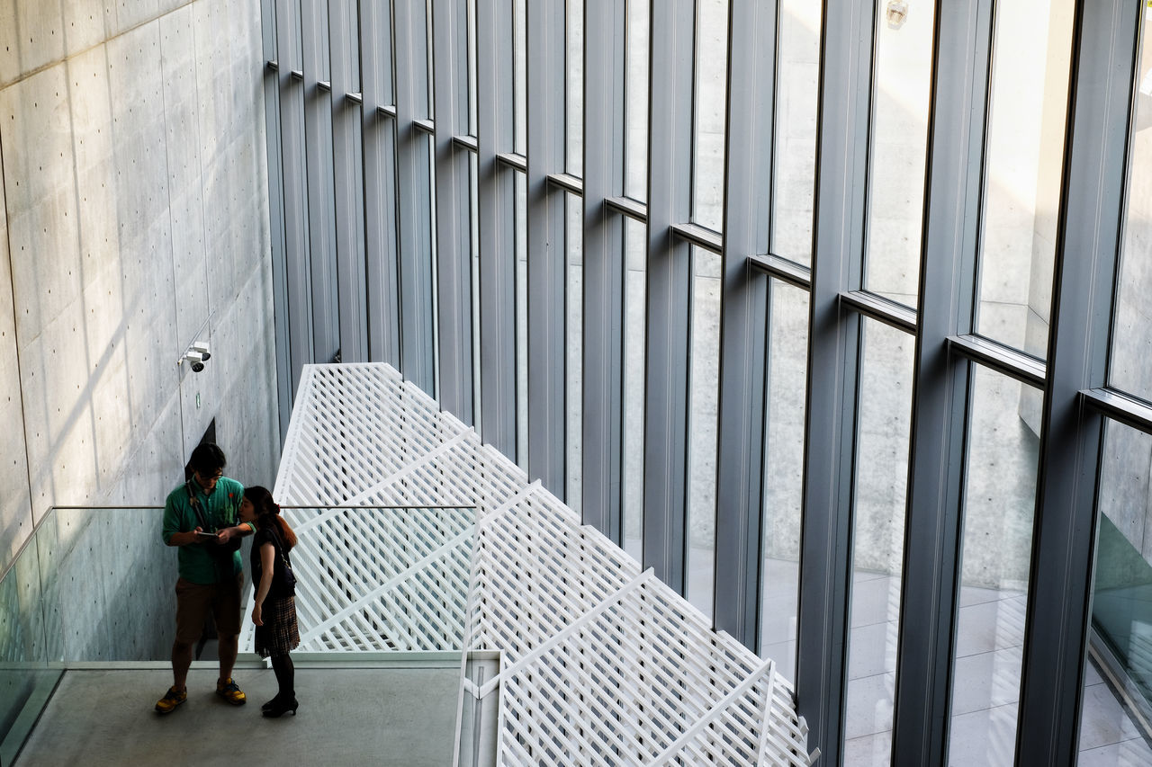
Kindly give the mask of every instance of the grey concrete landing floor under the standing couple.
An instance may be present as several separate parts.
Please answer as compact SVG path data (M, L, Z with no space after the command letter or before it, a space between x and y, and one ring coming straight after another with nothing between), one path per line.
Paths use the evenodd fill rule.
M236 670L244 706L217 698L215 677L192 669L188 701L161 716L152 707L169 670L69 670L15 765L452 764L458 667L297 667L300 711L279 720L260 716L271 669Z

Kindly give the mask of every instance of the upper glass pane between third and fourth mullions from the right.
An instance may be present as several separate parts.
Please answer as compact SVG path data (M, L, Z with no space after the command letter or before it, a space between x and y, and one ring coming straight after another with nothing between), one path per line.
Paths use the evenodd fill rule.
M812 259L820 9L811 0L780 0L776 36L771 248L801 264Z

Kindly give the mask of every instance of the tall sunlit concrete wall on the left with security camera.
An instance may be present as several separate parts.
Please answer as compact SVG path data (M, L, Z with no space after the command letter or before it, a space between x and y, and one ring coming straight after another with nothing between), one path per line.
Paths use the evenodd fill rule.
M272 483L259 14L258 0L0 0L0 569L53 506L162 504L213 419L227 473ZM212 359L197 374L176 360L198 339ZM58 621L108 629L77 628L62 652L113 656L128 635L136 656L165 656L175 572L159 512L58 527ZM131 579L85 583L109 556Z

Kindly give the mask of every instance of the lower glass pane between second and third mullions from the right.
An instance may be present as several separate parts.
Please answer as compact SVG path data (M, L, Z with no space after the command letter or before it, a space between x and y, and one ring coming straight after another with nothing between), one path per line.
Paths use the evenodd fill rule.
M916 340L874 320L861 324L844 761L887 765Z

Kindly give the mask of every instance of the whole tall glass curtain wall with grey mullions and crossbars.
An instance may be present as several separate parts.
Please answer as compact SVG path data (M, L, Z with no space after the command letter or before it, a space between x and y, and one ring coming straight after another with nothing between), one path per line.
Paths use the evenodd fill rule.
M562 465L828 764L1152 760L1145 3L326 9L271 18L286 379L359 348Z

